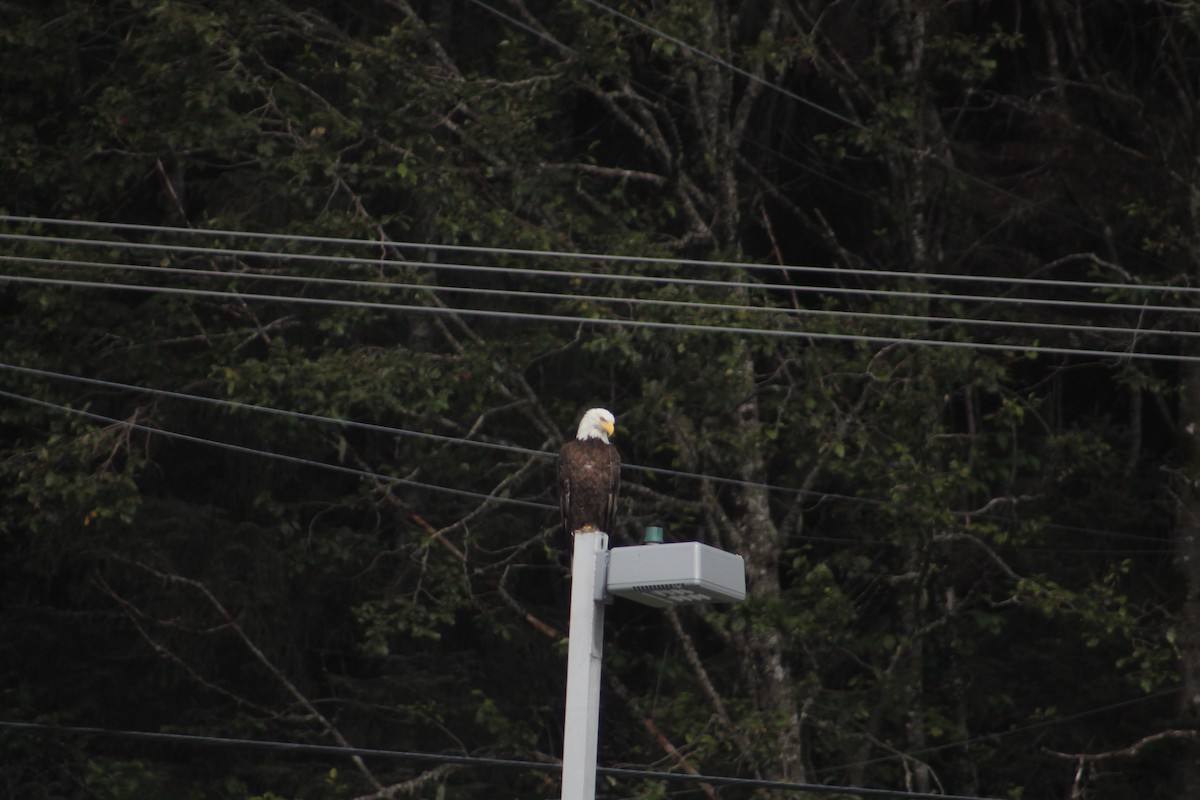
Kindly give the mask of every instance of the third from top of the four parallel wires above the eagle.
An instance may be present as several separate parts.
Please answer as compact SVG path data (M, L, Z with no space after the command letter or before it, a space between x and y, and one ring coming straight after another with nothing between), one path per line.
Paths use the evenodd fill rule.
M2 235L0 235L0 237L2 237ZM128 263L114 263L114 261L90 261L90 260L67 259L67 258L0 255L0 263L26 264L30 266L38 266L38 265L62 266L68 269L96 269L96 270L118 270L118 271L124 270L131 272L179 276L188 278L210 277L210 278L223 278L223 279L239 279L239 278L260 279L260 281L270 281L280 283L347 287L355 289L409 290L409 291L427 291L430 294L457 293L467 295L516 297L516 299L538 300L538 301L557 300L557 301L570 301L570 302L620 303L626 306L643 306L649 308L683 308L692 311L704 309L704 311L721 311L732 313L770 313L770 314L780 314L784 317L828 317L835 319L860 319L860 320L872 320L872 321L928 323L934 325L977 325L985 327L995 326L995 327L1003 327L1012 330L1078 331L1093 335L1111 333L1118 336L1133 335L1135 337L1150 337L1150 336L1176 336L1183 338L1200 337L1200 331L1172 330L1172 329L1121 327L1111 325L1094 325L1094 324L1080 325L1070 323L1031 323L1024 320L990 319L990 318L984 319L976 317L936 317L936 315L923 315L923 314L836 311L828 308L793 308L787 306L750 306L744 303L727 303L727 302L660 300L653 297L623 297L619 295L589 295L589 294L563 293L563 291L533 291L526 289L494 289L484 287L458 287L458 285L444 285L444 284L430 284L430 283L367 281L361 278L330 278L324 276L257 272L251 270L239 270L239 271L208 270L199 267L158 266L151 264L128 264ZM761 284L752 284L752 285L761 285ZM931 295L931 296L941 297L943 295ZM1112 306L1103 305L1103 307L1110 308ZM1144 309L1146 307L1138 306L1138 308Z

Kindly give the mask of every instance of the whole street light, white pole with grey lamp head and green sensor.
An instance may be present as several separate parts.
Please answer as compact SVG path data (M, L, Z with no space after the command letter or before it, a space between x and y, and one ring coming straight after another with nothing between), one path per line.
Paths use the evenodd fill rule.
M647 541L608 549L602 531L576 531L571 560L571 621L566 646L566 720L563 726L563 800L595 800L600 726L604 607L613 595L654 608L745 597L740 555L700 542Z

